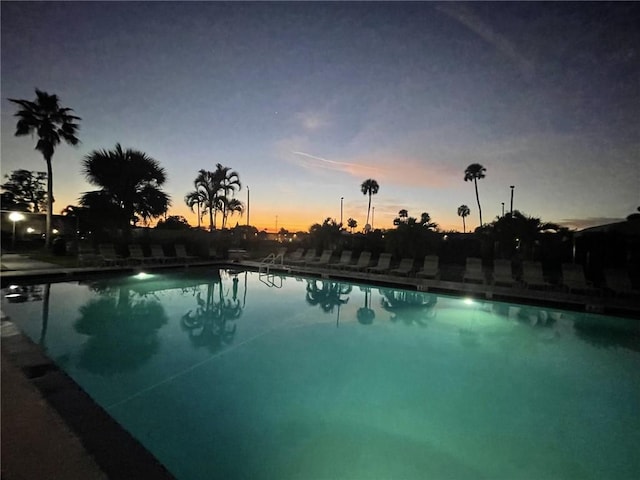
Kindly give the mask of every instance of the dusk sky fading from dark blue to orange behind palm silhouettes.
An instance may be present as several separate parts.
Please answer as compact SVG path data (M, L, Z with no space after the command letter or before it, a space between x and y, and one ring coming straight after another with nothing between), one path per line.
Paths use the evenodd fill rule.
M16 138L37 87L82 117L53 158L54 212L94 189L81 160L116 143L166 169L170 215L199 169L251 192L259 229L400 209L462 230L514 208L571 228L640 205L640 3L5 2L2 175L46 170ZM229 223L246 223L234 217ZM206 223L206 219L205 219Z

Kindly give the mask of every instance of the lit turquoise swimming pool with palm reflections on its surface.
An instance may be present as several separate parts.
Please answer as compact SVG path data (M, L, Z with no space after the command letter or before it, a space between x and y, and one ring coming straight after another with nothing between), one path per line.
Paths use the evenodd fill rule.
M634 320L228 270L3 311L178 479L640 477Z

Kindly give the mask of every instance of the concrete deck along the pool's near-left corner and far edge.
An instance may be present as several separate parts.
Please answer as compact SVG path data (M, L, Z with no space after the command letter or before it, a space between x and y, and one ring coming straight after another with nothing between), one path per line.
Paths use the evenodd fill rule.
M139 266L60 267L17 254L3 254L2 284L71 281L83 276L135 272ZM259 270L259 262L204 261L151 265L144 269L239 267ZM557 308L640 318L638 297L589 296L486 284L339 270L272 267L270 273L309 275L320 280L356 281L434 293L468 294L502 301L549 304ZM2 319L2 478L117 479L172 478L144 448L84 398L75 384L46 359L40 348ZM86 397L86 395L85 395ZM87 414L90 412L90 414Z

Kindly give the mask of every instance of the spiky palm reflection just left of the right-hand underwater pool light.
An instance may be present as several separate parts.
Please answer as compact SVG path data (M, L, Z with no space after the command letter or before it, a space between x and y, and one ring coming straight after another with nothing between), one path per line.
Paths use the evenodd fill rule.
M391 312L392 322L402 320L407 325L415 323L424 327L425 320L436 315L438 299L435 295L393 289L380 289L380 293L382 308Z

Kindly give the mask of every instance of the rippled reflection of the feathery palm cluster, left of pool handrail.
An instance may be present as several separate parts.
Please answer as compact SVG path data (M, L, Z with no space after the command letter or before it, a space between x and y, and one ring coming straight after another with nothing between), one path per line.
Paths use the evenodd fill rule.
M196 294L198 306L182 316L181 325L187 330L189 340L196 347L207 347L215 352L233 341L236 324L230 323L242 314L242 307L237 298L237 278L234 278L232 298L225 299L222 282L207 284L206 298L202 299L201 292ZM215 286L218 284L218 299L215 299Z

